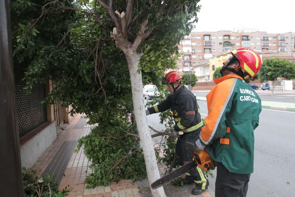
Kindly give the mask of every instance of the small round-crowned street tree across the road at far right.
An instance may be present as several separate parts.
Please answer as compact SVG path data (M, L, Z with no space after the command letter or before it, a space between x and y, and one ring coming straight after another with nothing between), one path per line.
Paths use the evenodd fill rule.
M275 86L278 77L284 77L287 80L295 78L295 64L286 59L271 58L263 60L259 71L259 80L273 81ZM274 88L271 92L273 95Z

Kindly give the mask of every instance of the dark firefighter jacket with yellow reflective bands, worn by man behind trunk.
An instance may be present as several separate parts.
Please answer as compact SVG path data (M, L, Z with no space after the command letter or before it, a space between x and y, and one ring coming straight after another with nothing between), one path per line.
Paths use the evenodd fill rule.
M160 104L148 108L150 114L163 112L171 108L175 121L175 130L183 132L196 131L203 126L199 106L194 94L181 86L173 95L169 95Z

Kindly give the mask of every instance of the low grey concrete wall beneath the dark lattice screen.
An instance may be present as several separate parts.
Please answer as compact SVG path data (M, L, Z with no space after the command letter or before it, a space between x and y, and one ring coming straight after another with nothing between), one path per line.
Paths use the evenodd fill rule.
M56 139L55 121L20 147L22 167L30 168Z

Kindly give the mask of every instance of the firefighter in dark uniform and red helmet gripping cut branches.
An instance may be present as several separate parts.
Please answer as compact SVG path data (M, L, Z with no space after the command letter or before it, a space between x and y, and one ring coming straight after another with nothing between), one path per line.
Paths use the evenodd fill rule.
M171 95L160 104L148 108L146 114L171 109L170 115L173 116L175 121L173 133L178 137L175 157L180 165L184 165L194 157L192 152L187 151L185 143L186 141L194 143L199 138L203 122L196 97L189 89L181 85L181 80L181 75L178 72L171 71L167 73L162 80L162 84L167 84L167 89ZM179 135L179 131L183 131L183 134ZM183 181L185 184L196 184L192 191L194 195L201 194L209 185L206 175L199 167L186 173L186 178Z

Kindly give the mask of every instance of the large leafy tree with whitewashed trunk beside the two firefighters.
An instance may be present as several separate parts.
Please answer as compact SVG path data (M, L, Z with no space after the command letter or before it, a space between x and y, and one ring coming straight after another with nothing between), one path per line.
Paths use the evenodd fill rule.
M50 17L49 8L54 9L54 13L68 12L69 16L72 14L77 19L64 24L66 32L58 37L57 44L43 51L35 51L38 58L29 63L26 74L27 91L36 83L57 78L58 83L47 101L52 104L62 100L64 106L73 106L72 113L86 113L89 123L99 123L99 128L91 131L93 135L79 141L79 147L84 144L87 157L94 160L92 167L96 177L89 180L92 186L107 182L96 179L101 179L97 175L101 173L101 164L107 159L112 160L113 165L109 165L112 167L107 172L101 173L105 179L107 177L104 175L108 172L120 172L113 174L119 178L122 173L128 173L128 170L130 175L136 172L132 168L124 168L124 164L130 161L128 159L140 158L137 157L136 150L132 149L136 147L137 139L133 139L131 144L122 144L129 141L134 133L131 129L118 130L118 125L126 122L126 112L134 109L151 183L160 175L145 118L141 72L149 73L144 79L155 79L166 68L175 66L171 56L178 53L176 44L190 33L192 24L197 20L198 1L79 2L83 6L65 4L64 1L43 1L41 5L36 3L35 7L39 7L41 12L37 17L39 20L26 27L27 30L38 23L42 24L43 20L40 19ZM60 21L67 19L65 17ZM35 29L38 32L41 30ZM114 136L116 132L112 131L118 131L118 135ZM118 146L113 147L112 152L107 152L107 155L97 155L97 144L104 143L105 146L102 147L109 148L106 138L117 139ZM130 147L129 151L126 147ZM118 155L116 158L120 159L115 160L112 156L115 152L127 155L127 158L120 158ZM132 165L132 162L129 164ZM142 174L141 166L136 166L139 168L138 174ZM162 188L152 190L152 193L153 196L165 195Z

